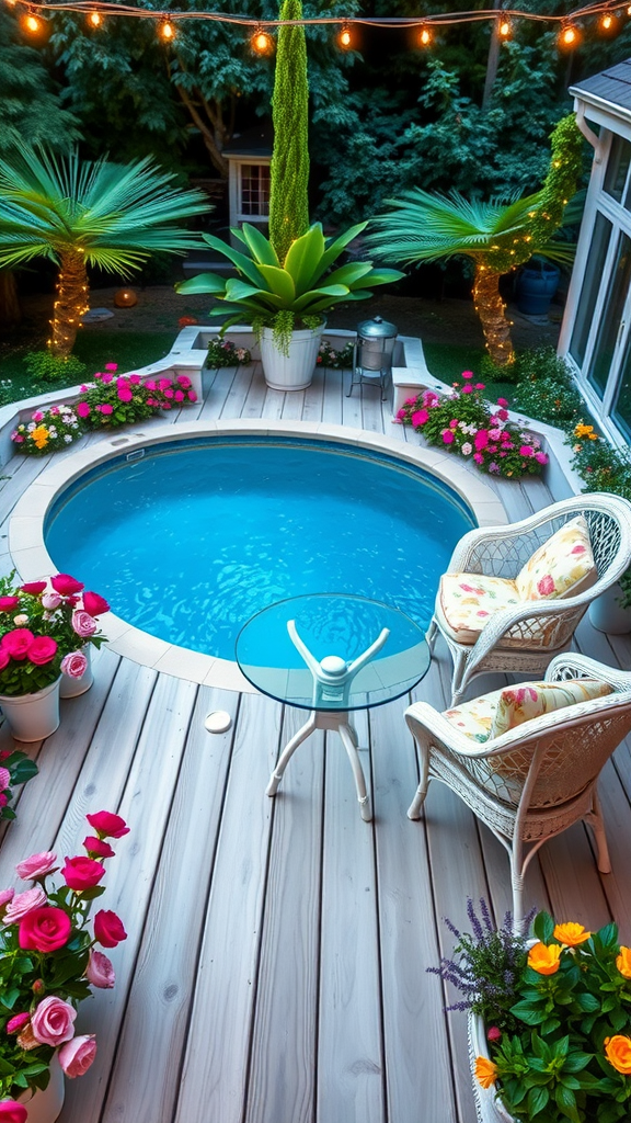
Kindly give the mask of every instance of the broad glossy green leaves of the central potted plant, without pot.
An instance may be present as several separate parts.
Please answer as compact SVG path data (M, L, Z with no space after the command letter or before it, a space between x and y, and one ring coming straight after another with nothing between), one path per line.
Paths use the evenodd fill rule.
M374 285L388 284L402 276L396 270L374 270L371 262L347 262L336 267L338 257L365 226L362 222L338 238L324 238L317 222L292 243L283 265L272 243L248 222L243 229L231 231L245 253L213 235L204 235L212 249L232 262L239 276L201 273L175 285L176 291L207 292L225 301L222 308L214 308L210 313L235 313L226 321L223 330L237 323L246 311L255 326L274 329L276 345L286 354L289 338L296 325L314 327L336 304L367 300Z

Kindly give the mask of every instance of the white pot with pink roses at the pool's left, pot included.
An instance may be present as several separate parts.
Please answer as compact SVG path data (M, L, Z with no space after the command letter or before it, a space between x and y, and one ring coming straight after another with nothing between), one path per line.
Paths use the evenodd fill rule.
M86 650L104 642L95 614L109 605L70 574L15 576L0 578L0 706L17 740L39 741L60 724L62 676L91 685Z

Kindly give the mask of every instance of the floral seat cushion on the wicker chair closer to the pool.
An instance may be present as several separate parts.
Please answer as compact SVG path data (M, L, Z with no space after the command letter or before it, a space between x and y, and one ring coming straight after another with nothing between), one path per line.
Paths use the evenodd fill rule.
M440 578L441 623L458 643L475 643L494 612L518 604L514 581L478 573L445 573Z

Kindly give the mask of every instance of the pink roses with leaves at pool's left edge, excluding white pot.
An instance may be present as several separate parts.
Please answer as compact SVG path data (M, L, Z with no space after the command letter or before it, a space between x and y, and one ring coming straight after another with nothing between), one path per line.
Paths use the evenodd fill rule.
M62 672L80 677L86 668L82 647L106 641L94 617L109 610L70 574L18 587L15 581L15 572L0 578L0 694L9 697L34 694Z

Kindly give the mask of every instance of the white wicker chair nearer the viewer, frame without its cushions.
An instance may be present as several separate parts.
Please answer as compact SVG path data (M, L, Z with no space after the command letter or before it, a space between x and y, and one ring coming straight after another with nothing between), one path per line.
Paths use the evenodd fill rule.
M426 702L405 711L421 772L409 818L420 819L432 778L456 792L509 852L515 923L523 917L531 858L577 820L594 830L598 869L611 870L596 784L631 730L631 674L569 654L552 659L546 682L586 677L609 683L613 693L546 713L484 743L465 737Z

